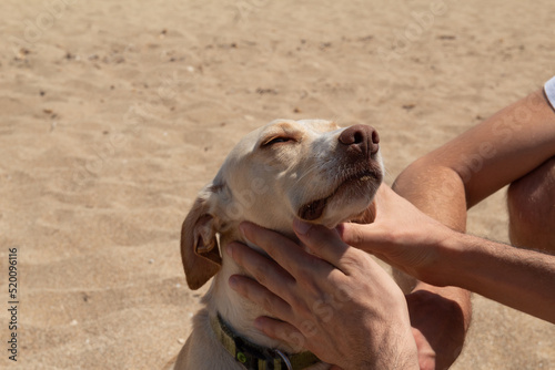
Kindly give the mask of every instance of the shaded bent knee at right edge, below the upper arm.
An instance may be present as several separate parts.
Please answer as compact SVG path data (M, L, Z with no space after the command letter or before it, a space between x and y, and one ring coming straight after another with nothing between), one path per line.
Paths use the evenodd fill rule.
M555 157L509 185L507 207L513 245L555 250Z

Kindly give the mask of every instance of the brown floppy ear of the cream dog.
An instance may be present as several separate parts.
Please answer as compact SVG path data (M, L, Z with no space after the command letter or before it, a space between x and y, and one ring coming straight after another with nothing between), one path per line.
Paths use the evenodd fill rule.
M209 193L210 192L210 193ZM181 227L181 259L189 288L202 287L222 266L219 220L211 214L212 192L201 192Z

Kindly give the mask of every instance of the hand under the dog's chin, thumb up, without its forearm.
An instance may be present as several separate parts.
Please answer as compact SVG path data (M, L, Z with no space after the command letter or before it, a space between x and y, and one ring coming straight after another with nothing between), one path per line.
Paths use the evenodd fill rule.
M374 223L337 226L342 240L418 280L447 285L448 273L443 274L441 255L445 241L457 233L420 212L386 185L380 187L375 206Z

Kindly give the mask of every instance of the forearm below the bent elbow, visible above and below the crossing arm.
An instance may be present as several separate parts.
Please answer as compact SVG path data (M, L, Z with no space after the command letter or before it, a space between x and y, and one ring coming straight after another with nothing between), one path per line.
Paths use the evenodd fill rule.
M397 177L393 188L428 216L452 229L465 230L464 184L451 168L416 161ZM421 368L448 368L458 357L471 323L471 295L461 288L414 281L407 305Z

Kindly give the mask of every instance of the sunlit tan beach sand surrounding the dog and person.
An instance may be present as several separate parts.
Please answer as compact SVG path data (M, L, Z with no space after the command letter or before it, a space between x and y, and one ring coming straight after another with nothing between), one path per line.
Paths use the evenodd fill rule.
M555 70L541 1L3 0L0 367L159 369L205 291L181 223L278 117L372 124L387 183ZM468 230L507 240L503 191ZM17 248L17 363L8 359ZM453 369L553 369L555 327L474 297Z

